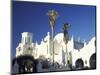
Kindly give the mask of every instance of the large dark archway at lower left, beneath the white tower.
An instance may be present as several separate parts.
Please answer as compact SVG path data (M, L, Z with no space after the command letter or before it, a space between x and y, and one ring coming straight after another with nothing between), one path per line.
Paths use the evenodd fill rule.
M22 73L35 73L37 72L36 65L37 65L37 60L35 60L32 56L19 56L16 59L13 60L13 67L15 62L18 64L18 72L19 74Z

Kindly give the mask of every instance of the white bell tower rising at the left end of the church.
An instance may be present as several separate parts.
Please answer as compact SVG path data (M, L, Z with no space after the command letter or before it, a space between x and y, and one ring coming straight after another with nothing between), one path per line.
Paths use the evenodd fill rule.
M34 45L32 43L32 33L23 32L21 43L16 48L16 57L20 55L32 55Z

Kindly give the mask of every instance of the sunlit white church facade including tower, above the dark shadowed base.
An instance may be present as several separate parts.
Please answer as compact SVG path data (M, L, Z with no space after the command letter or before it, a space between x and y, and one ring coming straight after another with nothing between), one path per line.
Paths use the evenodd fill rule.
M91 38L88 43L75 40L72 36L68 41L67 48L63 41L63 33L58 33L53 40L54 63L66 66L69 63L72 68L91 67L91 57L96 54L96 39ZM42 39L41 43L33 43L33 34L23 32L21 42L16 48L16 58L23 55L31 55L34 59L44 57L52 63L53 54L51 52L50 33ZM66 52L67 51L67 52ZM93 61L92 61L93 62Z

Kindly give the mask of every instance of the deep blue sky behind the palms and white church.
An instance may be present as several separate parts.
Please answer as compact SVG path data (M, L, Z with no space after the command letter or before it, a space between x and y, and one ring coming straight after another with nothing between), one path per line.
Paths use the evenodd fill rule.
M12 51L21 42L22 32L33 33L33 41L40 43L47 32L50 32L48 10L56 10L59 17L56 20L55 35L62 32L64 23L70 23L70 37L80 37L87 42L95 36L96 7L71 4L50 4L36 2L12 2Z

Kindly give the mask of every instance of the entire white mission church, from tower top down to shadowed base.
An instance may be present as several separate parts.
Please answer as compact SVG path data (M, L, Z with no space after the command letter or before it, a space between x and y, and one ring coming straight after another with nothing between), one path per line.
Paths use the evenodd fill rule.
M66 48L66 44L63 40L64 34L58 33L54 36L53 40L54 53L52 53L51 50L49 32L47 32L47 35L42 39L40 44L38 44L38 42L34 43L32 41L33 38L33 34L30 32L22 33L21 42L16 48L17 62L14 62L13 67L15 73L33 72L35 69L37 72L50 72L96 68L95 37L92 37L91 40L86 43L80 39L75 40L72 36L68 40ZM32 61L29 62L29 60ZM33 60L36 60L35 65L33 64ZM16 68L16 64L24 66L25 71L23 71L23 67L18 67L18 65Z

